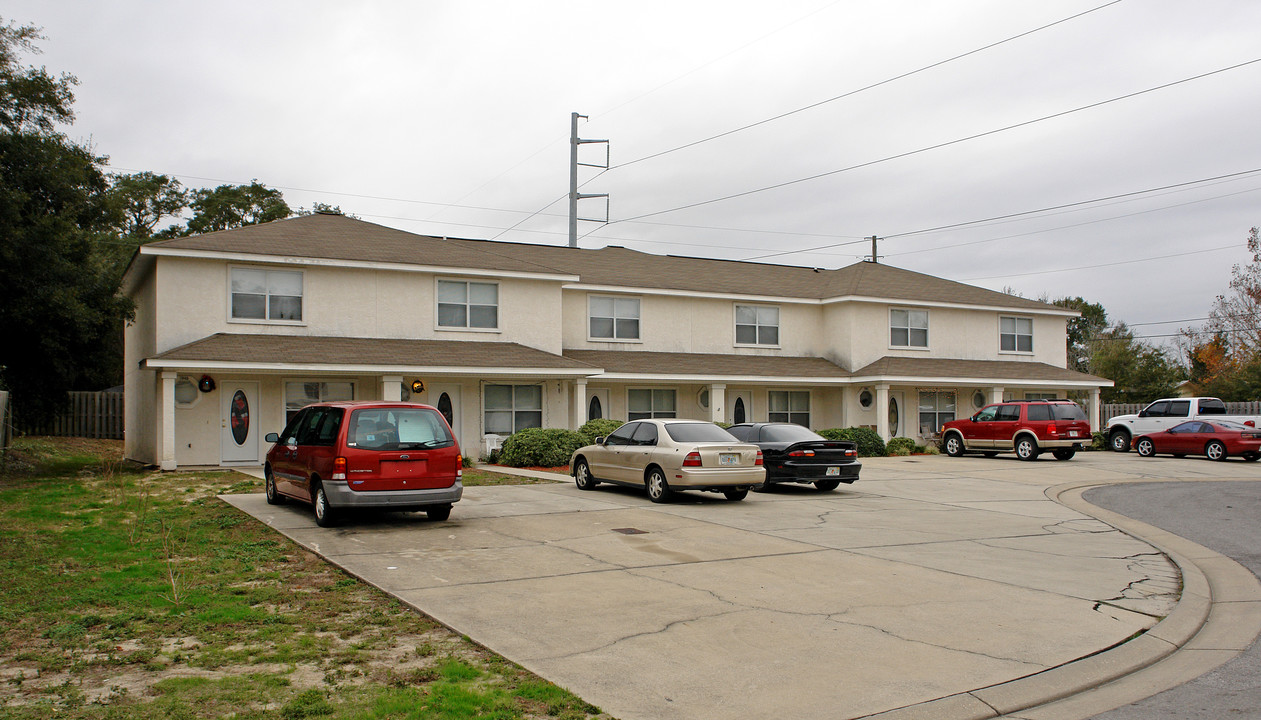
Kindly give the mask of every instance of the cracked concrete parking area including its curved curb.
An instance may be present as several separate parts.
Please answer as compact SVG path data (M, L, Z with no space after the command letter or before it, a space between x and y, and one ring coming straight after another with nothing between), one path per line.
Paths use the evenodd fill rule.
M1256 465L865 459L834 493L657 506L608 485L467 488L448 522L332 531L309 508L223 499L620 720L1052 720L1189 680L1261 632L1250 572L1079 499L1197 475ZM1229 627L1204 625L1211 610ZM1081 695L1100 686L1122 690Z

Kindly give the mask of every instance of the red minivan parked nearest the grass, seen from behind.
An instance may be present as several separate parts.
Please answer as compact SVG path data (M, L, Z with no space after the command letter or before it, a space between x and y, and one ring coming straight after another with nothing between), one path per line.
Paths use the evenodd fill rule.
M441 412L416 402L319 402L272 443L267 502L311 503L320 527L343 509L425 511L446 520L464 494L463 458Z

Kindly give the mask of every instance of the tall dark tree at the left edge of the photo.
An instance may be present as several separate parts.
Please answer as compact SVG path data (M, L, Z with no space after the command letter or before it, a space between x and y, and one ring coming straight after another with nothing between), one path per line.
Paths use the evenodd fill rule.
M0 28L0 385L32 417L67 390L117 382L131 313L101 252L115 219L103 159L55 131L73 117L73 78L19 66L39 37Z

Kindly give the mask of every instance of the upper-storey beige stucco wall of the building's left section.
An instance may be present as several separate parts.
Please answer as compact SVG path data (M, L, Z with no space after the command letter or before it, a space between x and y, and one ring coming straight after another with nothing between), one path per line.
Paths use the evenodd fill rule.
M214 333L266 333L367 338L435 338L512 342L560 353L560 284L502 279L497 330L446 330L436 325L436 276L424 272L324 266L230 264L158 257L158 352ZM303 272L303 320L230 319L231 267ZM445 277L445 276L444 276ZM468 280L483 280L469 277Z

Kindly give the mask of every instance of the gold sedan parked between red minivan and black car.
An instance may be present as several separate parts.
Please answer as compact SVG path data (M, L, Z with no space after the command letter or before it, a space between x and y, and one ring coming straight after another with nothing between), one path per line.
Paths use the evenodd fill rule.
M668 501L675 491L743 501L767 478L757 445L700 420L633 420L575 450L569 465L579 489L599 483L643 487L654 503Z

